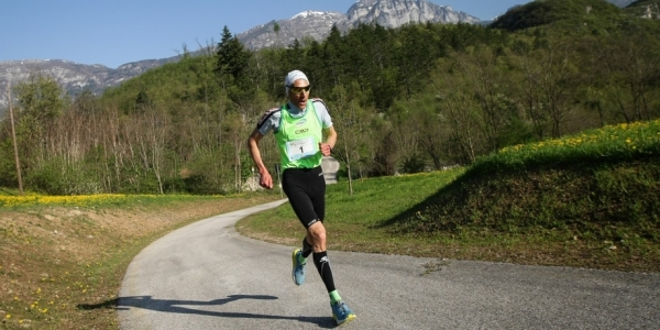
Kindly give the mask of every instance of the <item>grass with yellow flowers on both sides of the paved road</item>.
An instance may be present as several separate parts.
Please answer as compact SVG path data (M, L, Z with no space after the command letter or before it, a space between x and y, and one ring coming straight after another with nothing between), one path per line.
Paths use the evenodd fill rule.
M473 166L328 186L329 249L660 272L660 121L516 145ZM117 329L130 261L163 234L279 199L15 196L0 190L0 326ZM299 245L288 205L243 219L256 239ZM86 308L96 306L95 308Z

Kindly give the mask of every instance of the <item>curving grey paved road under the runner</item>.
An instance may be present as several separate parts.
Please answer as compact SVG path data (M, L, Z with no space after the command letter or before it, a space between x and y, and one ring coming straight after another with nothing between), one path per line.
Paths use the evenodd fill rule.
M129 266L121 329L334 328L318 273L290 279L290 246L212 217L154 242ZM331 239L331 238L330 238ZM343 329L659 329L660 275L330 251L358 319ZM311 266L311 264L310 264Z

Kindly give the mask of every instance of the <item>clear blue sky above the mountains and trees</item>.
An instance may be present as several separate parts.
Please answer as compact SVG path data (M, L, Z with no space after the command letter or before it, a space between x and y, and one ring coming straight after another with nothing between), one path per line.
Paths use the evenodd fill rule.
M529 0L431 0L482 20ZM355 0L0 0L0 61L66 59L111 68L165 58L307 11Z

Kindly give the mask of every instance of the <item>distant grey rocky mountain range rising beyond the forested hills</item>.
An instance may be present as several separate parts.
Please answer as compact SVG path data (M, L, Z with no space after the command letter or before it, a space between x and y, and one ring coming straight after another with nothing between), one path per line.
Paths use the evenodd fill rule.
M618 6L627 6L631 0L609 0ZM237 37L250 50L272 46L286 46L299 40L323 40L332 25L345 32L361 23L376 22L387 28L398 28L410 22L480 23L468 13L453 11L451 7L438 6L426 0L359 0L345 14L339 12L305 11L290 19L271 21L252 28ZM275 33L275 26L278 32ZM0 111L7 108L7 86L24 80L32 73L54 77L70 94L90 89L95 94L117 86L151 68L178 56L163 59L145 59L124 64L116 69L103 65L84 65L62 59L26 59L0 62ZM1 113L0 113L1 114Z

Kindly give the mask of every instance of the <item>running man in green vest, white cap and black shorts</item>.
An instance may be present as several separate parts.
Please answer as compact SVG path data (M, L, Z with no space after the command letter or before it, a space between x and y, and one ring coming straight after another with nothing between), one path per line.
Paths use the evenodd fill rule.
M326 179L321 169L321 158L332 152L337 132L326 103L321 99L309 99L311 85L304 73L288 73L285 86L289 101L266 111L250 135L248 146L258 168L260 185L272 189L273 177L261 158L258 142L268 132L274 132L283 170L282 188L307 230L302 249L294 250L292 255L294 283L305 283L305 265L312 254L314 264L330 296L332 317L342 324L354 319L355 314L339 296L328 260L323 226ZM327 136L324 142L323 133Z

